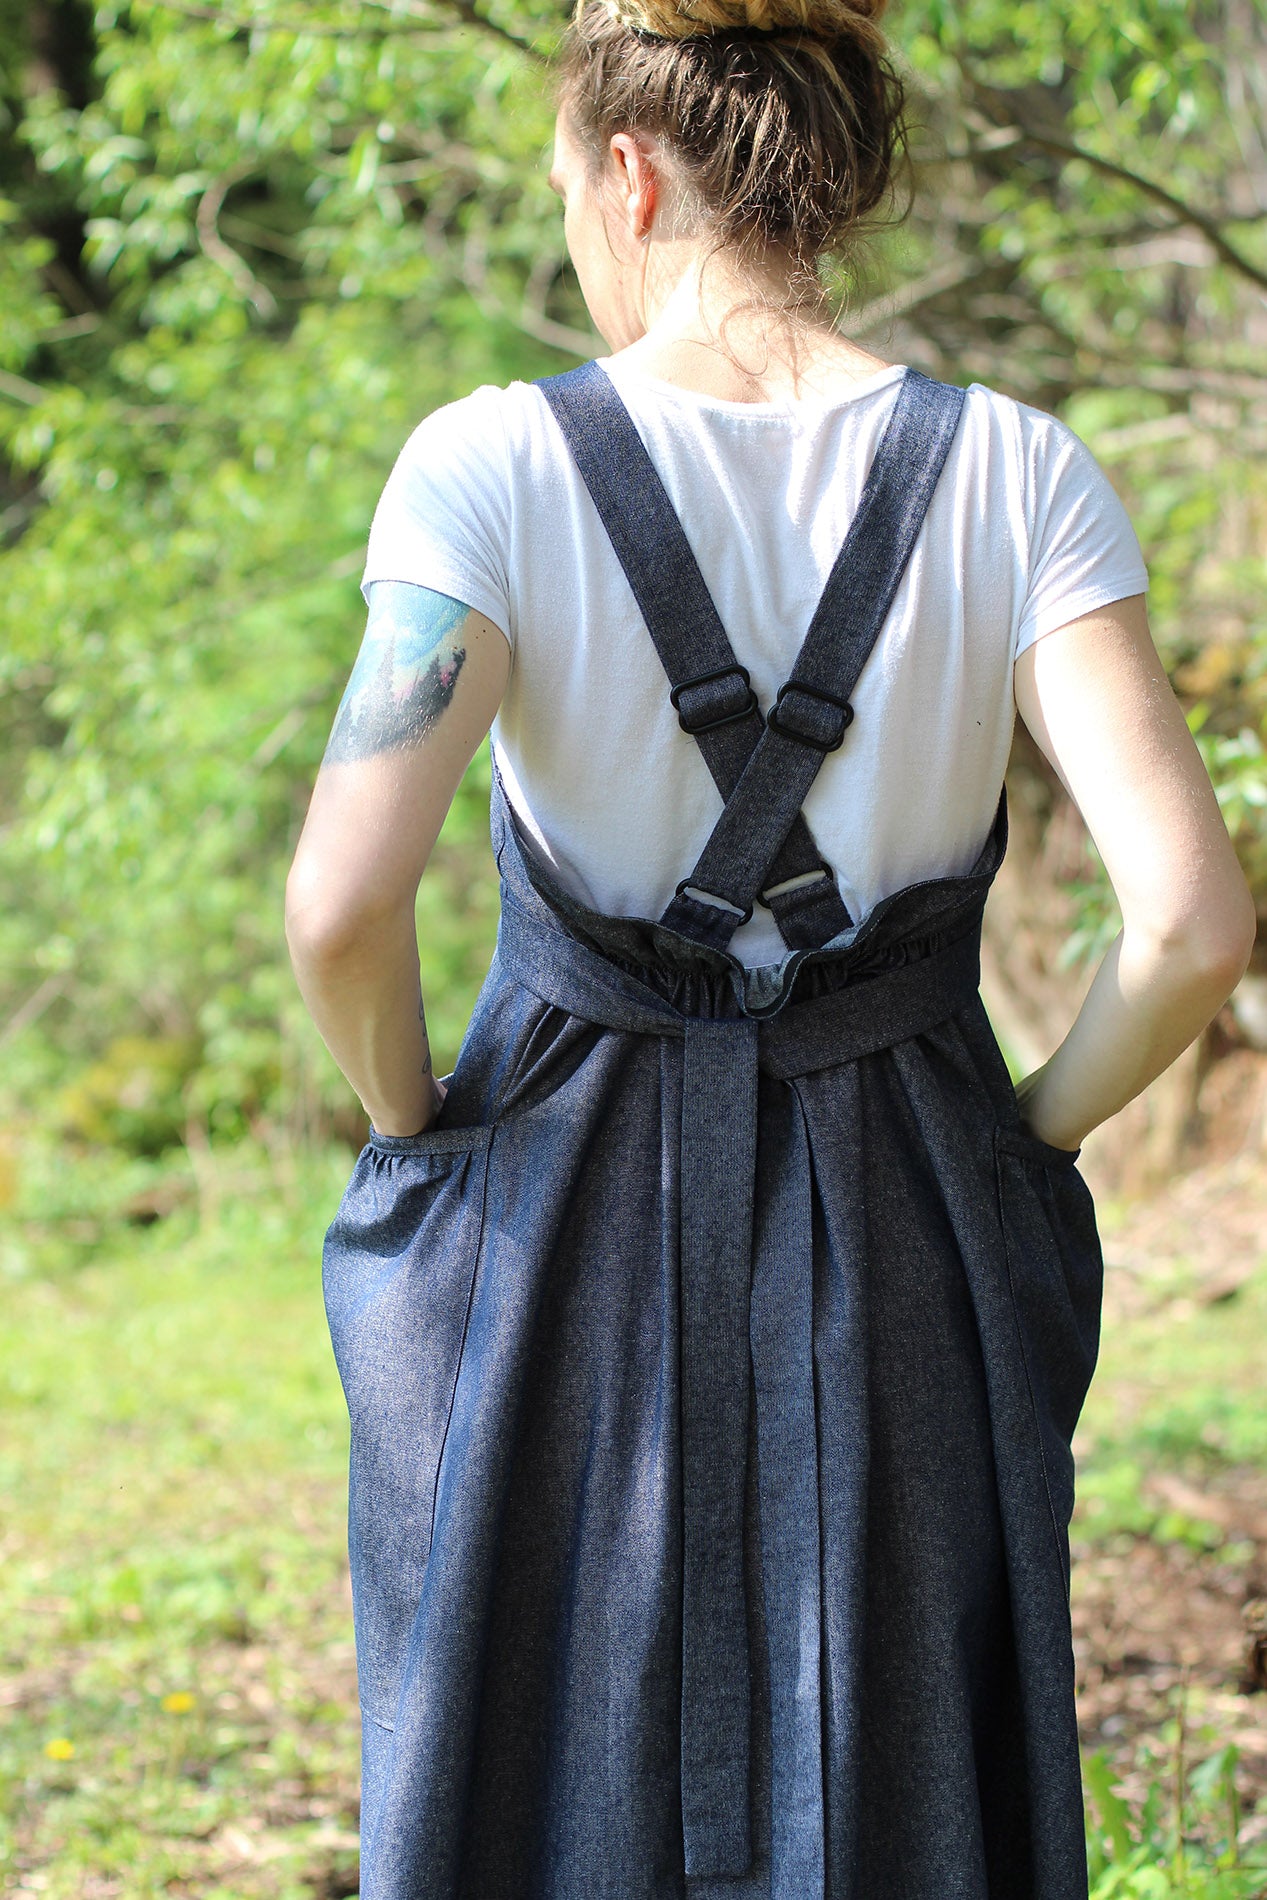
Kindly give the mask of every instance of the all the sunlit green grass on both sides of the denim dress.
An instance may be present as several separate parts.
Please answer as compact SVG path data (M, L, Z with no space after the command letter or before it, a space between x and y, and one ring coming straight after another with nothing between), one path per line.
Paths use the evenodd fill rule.
M236 1151L211 1203L201 1182L203 1218L177 1191L150 1226L112 1210L179 1176L65 1153L19 1170L0 1229L2 1890L357 1890L346 1416L319 1290L348 1167ZM1267 1469L1267 1271L1204 1307L1182 1262L1166 1271L1106 1330L1077 1531L1218 1554L1218 1520L1149 1476ZM1199 1712L1172 1710L1132 1767L1087 1759L1094 1900L1267 1892L1237 1860L1235 1752Z

